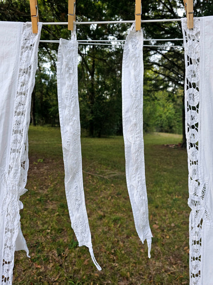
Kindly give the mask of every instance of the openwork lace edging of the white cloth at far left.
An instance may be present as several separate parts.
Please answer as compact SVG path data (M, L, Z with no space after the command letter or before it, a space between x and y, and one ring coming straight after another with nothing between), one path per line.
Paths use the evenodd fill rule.
M32 24L23 24L20 39L20 64L16 94L14 94L13 119L11 125L9 168L1 174L4 185L4 201L0 209L4 217L3 249L0 256L1 284L12 284L14 252L19 235L23 246L29 253L22 232L20 231L19 210L23 208L19 201L27 183L28 172L28 128L30 123L31 93L35 84L37 68L37 50L40 39L41 23L38 33L32 33Z

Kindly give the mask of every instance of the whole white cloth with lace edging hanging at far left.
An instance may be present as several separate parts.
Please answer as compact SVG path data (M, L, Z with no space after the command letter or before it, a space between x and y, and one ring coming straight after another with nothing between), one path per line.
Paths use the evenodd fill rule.
M0 281L12 284L14 252L25 250L19 201L28 172L28 127L40 39L31 23L0 22ZM29 255L28 255L29 256Z

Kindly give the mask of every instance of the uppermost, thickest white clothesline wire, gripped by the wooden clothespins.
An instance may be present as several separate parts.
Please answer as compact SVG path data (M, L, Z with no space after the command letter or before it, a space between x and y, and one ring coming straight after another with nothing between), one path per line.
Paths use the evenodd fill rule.
M141 20L141 23L158 23L158 22L179 22L181 18L177 19L159 19L159 20ZM94 22L75 22L76 25L93 25L93 24L128 24L135 23L135 21L94 21ZM68 22L47 22L42 25L68 25Z

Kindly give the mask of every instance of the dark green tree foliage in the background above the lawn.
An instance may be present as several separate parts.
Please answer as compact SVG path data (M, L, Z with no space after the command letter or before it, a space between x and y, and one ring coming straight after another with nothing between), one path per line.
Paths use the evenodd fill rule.
M38 0L40 22L67 22L68 1ZM134 20L134 1L78 0L76 20ZM196 16L210 15L213 1L197 0ZM142 1L142 19L179 18L182 0ZM1 21L31 21L28 0L0 2ZM78 40L125 39L130 25L78 25ZM145 39L182 39L180 22L142 23ZM67 25L42 27L42 40L71 38ZM184 120L184 56L182 41L150 41L144 47L144 130L181 132ZM79 45L78 84L81 126L90 136L122 133L121 67L122 46ZM40 43L38 71L32 95L31 118L34 124L58 125L57 107L58 44ZM182 115L181 115L182 112ZM183 128L184 133L184 128Z

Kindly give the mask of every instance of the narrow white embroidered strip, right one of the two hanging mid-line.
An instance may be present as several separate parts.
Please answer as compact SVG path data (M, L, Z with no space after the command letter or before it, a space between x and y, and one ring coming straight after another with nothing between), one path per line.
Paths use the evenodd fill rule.
M126 183L142 243L147 240L150 257L152 233L148 222L143 146L143 32L135 24L126 37L122 63L122 116Z

